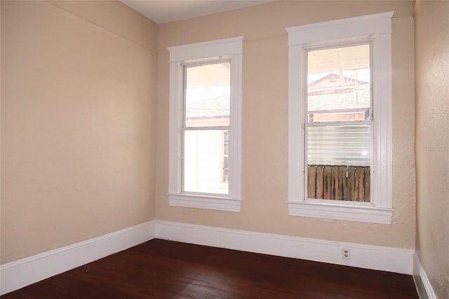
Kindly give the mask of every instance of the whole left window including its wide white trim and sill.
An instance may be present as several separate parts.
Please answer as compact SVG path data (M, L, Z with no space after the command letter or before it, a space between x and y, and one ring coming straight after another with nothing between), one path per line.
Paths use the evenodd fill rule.
M240 211L243 37L170 51L170 206Z

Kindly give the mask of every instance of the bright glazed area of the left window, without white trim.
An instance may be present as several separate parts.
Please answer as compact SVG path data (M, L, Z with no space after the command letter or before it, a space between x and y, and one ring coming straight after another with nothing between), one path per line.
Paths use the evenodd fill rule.
M229 194L222 180L223 136L229 132L229 61L184 65L182 192Z

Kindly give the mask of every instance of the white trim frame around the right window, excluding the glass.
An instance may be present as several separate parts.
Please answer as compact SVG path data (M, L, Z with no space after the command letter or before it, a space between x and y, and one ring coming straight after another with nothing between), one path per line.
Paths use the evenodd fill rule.
M391 224L391 18L394 12L286 28L288 32L289 215ZM303 98L305 49L348 41L373 41L373 164L371 203L307 201L305 197ZM377 99L377 100L376 100Z

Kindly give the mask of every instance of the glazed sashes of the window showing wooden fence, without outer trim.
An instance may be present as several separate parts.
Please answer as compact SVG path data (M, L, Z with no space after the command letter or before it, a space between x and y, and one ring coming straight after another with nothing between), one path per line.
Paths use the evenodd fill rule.
M305 51L307 199L370 202L370 44Z

